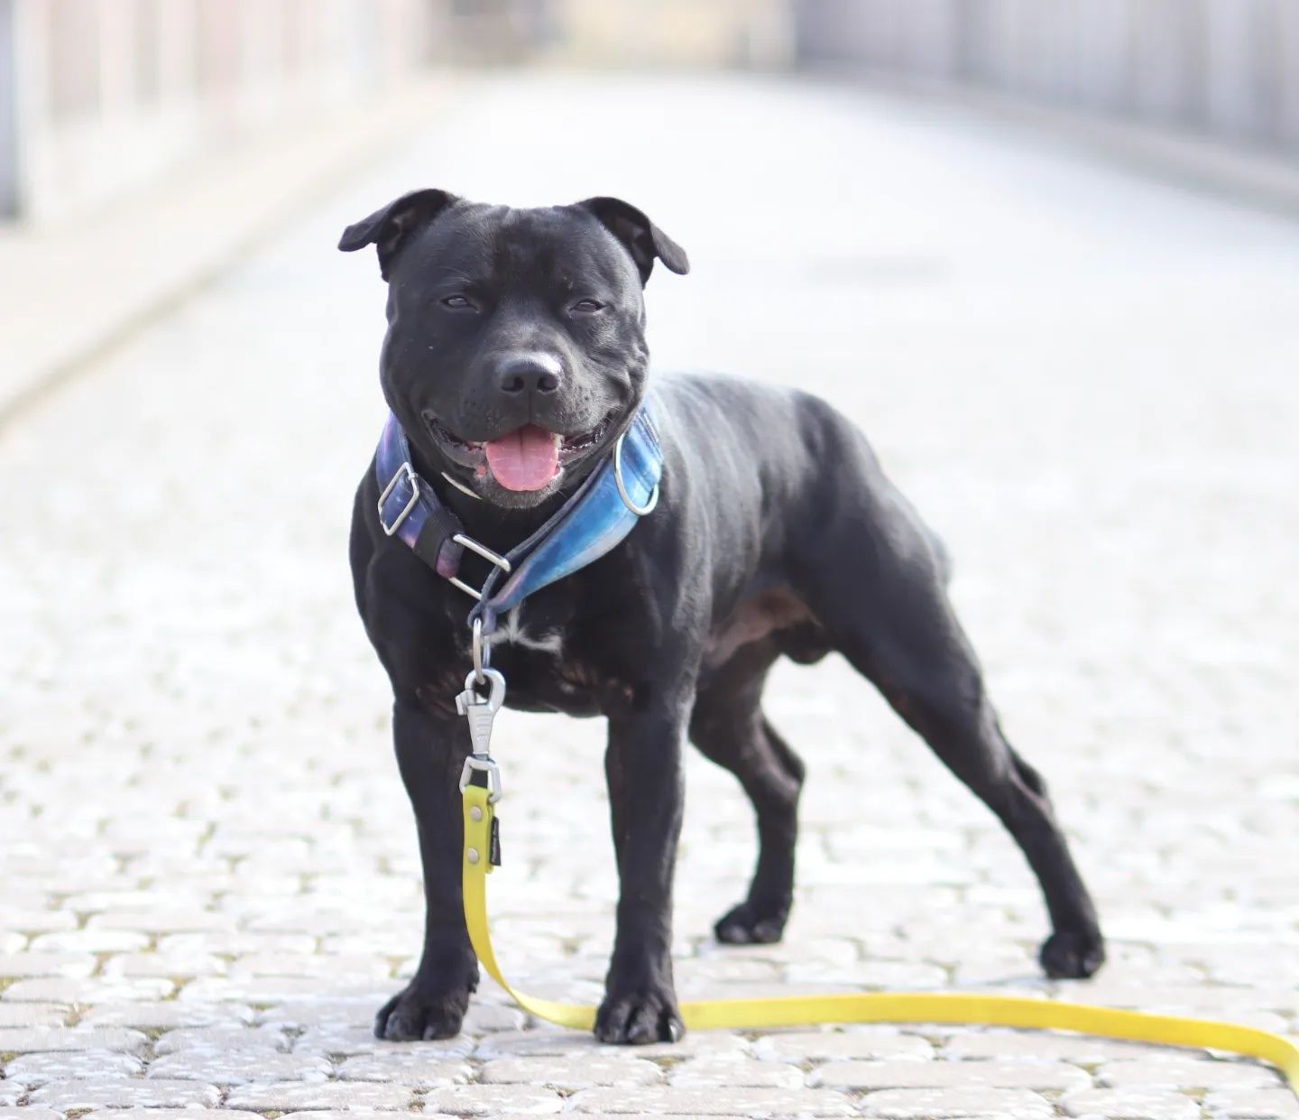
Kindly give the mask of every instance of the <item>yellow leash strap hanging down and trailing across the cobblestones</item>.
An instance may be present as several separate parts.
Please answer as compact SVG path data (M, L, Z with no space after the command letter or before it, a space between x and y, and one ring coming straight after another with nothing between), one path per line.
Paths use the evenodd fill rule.
M530 1015L560 1026L590 1030L595 1026L594 1007L538 999L511 986L501 973L487 923L487 874L492 869L490 854L495 816L490 791L482 786L466 785L464 811L465 923L483 968ZM708 999L681 1004L681 1017L691 1029L725 1026L750 1030L824 1023L943 1023L1072 1030L1104 1038L1225 1050L1257 1058L1277 1067L1299 1095L1299 1046L1280 1034L1234 1023L1147 1015L1082 1003L974 993L844 993L786 995L776 999Z

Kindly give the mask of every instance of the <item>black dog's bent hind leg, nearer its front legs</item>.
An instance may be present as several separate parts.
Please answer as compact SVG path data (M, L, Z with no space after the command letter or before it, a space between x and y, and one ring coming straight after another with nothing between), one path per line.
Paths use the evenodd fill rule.
M803 763L763 717L766 672L778 656L772 639L742 646L695 700L690 741L730 770L753 803L757 868L744 902L713 926L733 945L779 941L794 897L794 847Z

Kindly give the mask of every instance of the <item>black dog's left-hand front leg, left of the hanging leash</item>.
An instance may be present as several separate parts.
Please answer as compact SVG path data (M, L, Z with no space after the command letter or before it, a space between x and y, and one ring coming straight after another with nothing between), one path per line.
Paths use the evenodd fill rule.
M449 1038L460 1032L478 959L460 897L460 768L469 754L462 720L429 711L413 698L392 706L397 768L420 830L426 906L423 955L405 989L374 1020L379 1038Z

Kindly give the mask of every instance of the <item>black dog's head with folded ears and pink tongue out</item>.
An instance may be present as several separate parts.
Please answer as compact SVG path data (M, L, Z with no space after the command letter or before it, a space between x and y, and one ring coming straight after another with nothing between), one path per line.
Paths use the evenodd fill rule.
M512 209L403 195L343 231L388 282L383 394L440 470L498 505L536 505L612 447L646 391L642 288L682 248L596 197Z

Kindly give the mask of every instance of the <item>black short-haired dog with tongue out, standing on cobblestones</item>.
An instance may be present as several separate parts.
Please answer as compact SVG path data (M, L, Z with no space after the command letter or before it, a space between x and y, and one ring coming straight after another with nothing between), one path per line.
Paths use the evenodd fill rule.
M383 394L413 466L470 537L504 552L631 424L648 388L642 287L655 260L685 273L686 253L617 199L511 209L436 190L356 222L339 248L368 244L388 282ZM881 690L1022 848L1051 916L1046 972L1090 976L1103 941L1043 781L1002 735L947 600L942 547L861 433L814 396L720 377L662 379L653 413L664 453L655 512L530 598L495 646L509 706L608 719L621 897L596 1036L682 1033L669 947L687 735L739 778L757 816L757 871L717 937L781 938L804 772L761 709L782 654L811 663L838 651ZM378 499L372 463L352 570L392 681L427 926L420 968L375 1033L440 1038L460 1029L478 980L460 900L469 739L455 707L473 603L385 534Z

